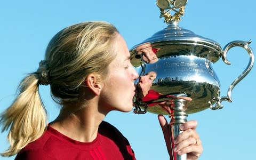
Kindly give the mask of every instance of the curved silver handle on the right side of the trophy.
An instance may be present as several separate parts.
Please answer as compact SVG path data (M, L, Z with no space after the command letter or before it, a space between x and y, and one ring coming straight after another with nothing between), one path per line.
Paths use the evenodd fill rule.
M250 41L246 42L246 41L233 41L233 42L230 42L228 43L224 49L223 49L223 52L222 52L222 60L227 64L227 65L230 65L231 63L227 60L227 52L229 51L229 49L231 49L232 47L234 46L240 46L240 47L243 47L249 54L249 57L250 57L250 61L247 65L247 67L245 68L245 70L243 71L243 73L241 75L239 75L235 81L233 81L233 83L231 83L231 85L229 86L228 88L228 92L227 92L227 96L226 97L218 97L217 98L217 103L215 105L215 107L213 107L211 104L210 104L210 108L211 109L221 109L223 107L223 105L221 104L221 102L223 100L225 101L228 101L228 102L232 102L232 99L231 99L231 92L233 90L233 88L236 86L237 83L239 83L252 69L253 67L253 63L254 63L254 55L253 55L253 52L252 52L252 49L251 47L249 46L249 44L251 43L251 39Z

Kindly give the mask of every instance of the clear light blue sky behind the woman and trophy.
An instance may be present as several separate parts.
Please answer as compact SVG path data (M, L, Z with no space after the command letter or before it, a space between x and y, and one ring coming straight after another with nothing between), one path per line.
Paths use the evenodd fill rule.
M222 48L235 40L249 41L256 50L255 1L190 1L179 26L218 42ZM254 18L253 18L254 17ZM0 2L0 112L14 99L21 79L37 70L38 62L52 36L69 25L102 20L113 23L128 47L142 42L166 27L159 19L155 0L141 1L1 1ZM220 59L212 65L221 82L221 96L247 66L249 56L235 47L228 52L228 66ZM233 90L233 102L223 102L221 110L206 109L190 114L198 121L197 132L204 152L199 159L251 159L255 153L255 67ZM40 92L52 121L59 111L50 97L49 86ZM122 95L117 95L122 98ZM157 115L135 115L113 111L106 121L115 125L129 139L140 159L169 159ZM0 133L0 152L8 148L6 132ZM14 157L0 159L14 159Z

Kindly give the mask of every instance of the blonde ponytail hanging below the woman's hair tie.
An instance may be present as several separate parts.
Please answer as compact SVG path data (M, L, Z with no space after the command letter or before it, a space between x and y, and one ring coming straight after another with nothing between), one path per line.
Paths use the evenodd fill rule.
M2 132L10 129L10 148L2 156L17 154L28 143L41 137L45 131L46 110L38 92L38 72L25 77L12 105L0 115Z

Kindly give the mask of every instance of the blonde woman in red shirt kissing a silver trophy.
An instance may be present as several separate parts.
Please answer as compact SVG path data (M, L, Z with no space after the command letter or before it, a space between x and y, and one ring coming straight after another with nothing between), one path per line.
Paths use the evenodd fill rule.
M138 73L118 30L107 22L67 27L47 46L45 60L20 83L20 93L1 115L10 129L11 147L2 155L15 159L135 159L126 138L103 119L111 110L132 110ZM39 85L50 85L62 108L47 125ZM117 87L118 86L118 87ZM122 95L122 99L118 97ZM166 119L159 115L164 137ZM202 153L196 122L182 125L175 144L178 154L197 159Z

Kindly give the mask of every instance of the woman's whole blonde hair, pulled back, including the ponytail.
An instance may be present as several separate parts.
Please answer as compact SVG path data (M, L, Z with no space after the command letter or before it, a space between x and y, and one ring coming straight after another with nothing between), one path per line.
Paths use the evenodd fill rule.
M51 39L44 60L47 82L41 82L40 69L29 74L21 81L17 98L0 116L2 132L10 129L10 148L2 156L17 154L44 133L47 118L38 85L50 84L52 98L61 105L81 101L87 75L93 73L101 81L106 77L116 56L112 45L118 33L107 22L83 22L62 29Z

